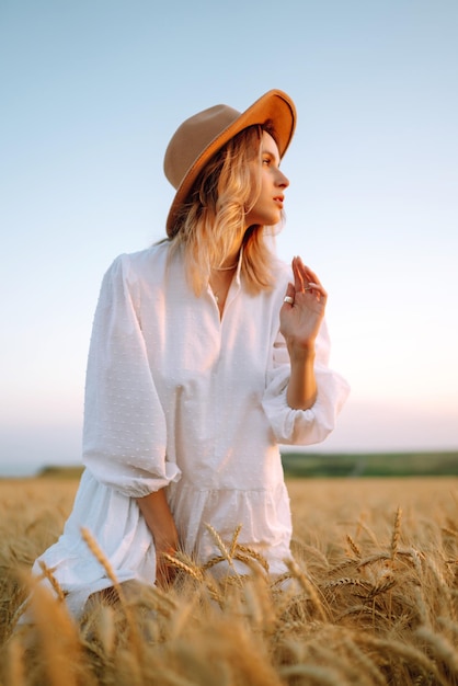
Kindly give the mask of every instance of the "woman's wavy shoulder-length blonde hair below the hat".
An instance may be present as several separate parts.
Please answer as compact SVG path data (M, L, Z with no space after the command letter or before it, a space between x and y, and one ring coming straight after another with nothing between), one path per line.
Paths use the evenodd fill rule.
M261 191L261 174L253 173L253 162L261 158L263 130L271 133L268 125L250 126L229 140L201 172L178 214L169 254L184 248L186 275L197 296L206 288L211 268L221 266L238 239L247 289L256 294L273 285L274 254L264 227L245 228L247 211Z

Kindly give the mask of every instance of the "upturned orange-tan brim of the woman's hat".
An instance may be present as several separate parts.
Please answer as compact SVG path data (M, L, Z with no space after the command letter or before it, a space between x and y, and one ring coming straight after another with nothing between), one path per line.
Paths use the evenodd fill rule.
M296 128L296 107L286 93L279 90L272 90L264 93L264 95L256 100L248 110L242 112L237 119L222 129L222 132L204 148L186 171L176 190L167 218L165 226L169 238L172 238L176 233L174 225L179 209L190 194L197 175L210 158L244 128L255 124L262 125L266 122L270 122L273 126L273 136L278 146L279 156L283 158Z

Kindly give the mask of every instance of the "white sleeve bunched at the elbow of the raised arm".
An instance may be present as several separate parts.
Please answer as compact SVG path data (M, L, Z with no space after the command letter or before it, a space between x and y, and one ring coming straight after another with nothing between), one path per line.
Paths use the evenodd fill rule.
M336 416L348 393L348 384L329 368L330 340L325 322L317 339L314 374L317 400L309 410L293 410L286 401L289 381L289 355L278 332L274 344L273 367L267 374L263 398L264 411L275 438L284 445L321 443L334 430Z

